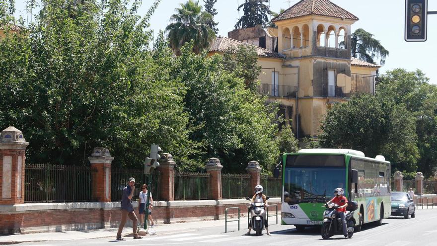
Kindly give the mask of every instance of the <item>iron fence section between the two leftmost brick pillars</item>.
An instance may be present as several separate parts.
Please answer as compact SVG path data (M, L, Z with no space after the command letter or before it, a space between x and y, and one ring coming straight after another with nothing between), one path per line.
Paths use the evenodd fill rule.
M24 202L89 202L92 195L89 166L25 164Z

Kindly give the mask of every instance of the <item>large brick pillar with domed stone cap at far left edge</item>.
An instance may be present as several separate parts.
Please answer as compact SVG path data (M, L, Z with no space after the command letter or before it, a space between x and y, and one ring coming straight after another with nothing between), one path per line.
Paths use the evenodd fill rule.
M0 135L0 204L24 203L24 160L29 145L13 126Z

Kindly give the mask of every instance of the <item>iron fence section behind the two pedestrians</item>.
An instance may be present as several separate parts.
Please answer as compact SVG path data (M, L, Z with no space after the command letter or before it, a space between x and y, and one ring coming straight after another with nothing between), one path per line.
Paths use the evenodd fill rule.
M144 174L143 168L117 168L111 170L111 201L121 201L123 189L128 185L129 178L135 178L135 190L132 200L137 200L143 184L148 185L148 177ZM161 172L156 170L151 175L151 187L147 187L152 192L154 201L162 200L159 180Z

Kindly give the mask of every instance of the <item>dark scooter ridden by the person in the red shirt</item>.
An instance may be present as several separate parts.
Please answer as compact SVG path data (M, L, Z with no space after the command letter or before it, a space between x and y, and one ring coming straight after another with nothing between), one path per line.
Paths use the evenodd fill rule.
M343 235L342 220L336 213L337 204L325 204L325 212L323 213L323 223L321 229L321 235L323 239L328 239L334 235ZM352 238L354 235L354 227L356 221L354 219L354 211L357 210L358 203L354 201L348 201L346 207L346 223L348 228L348 237Z

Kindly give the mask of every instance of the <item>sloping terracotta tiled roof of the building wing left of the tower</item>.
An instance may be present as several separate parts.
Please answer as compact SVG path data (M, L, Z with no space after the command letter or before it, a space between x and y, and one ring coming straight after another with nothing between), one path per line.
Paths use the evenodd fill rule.
M272 57L272 58L286 58L284 55L272 52L270 50L258 47L256 45L244 43L228 37L218 37L210 45L210 52L226 52L229 48L237 49L240 45L246 45L254 47L258 56Z

